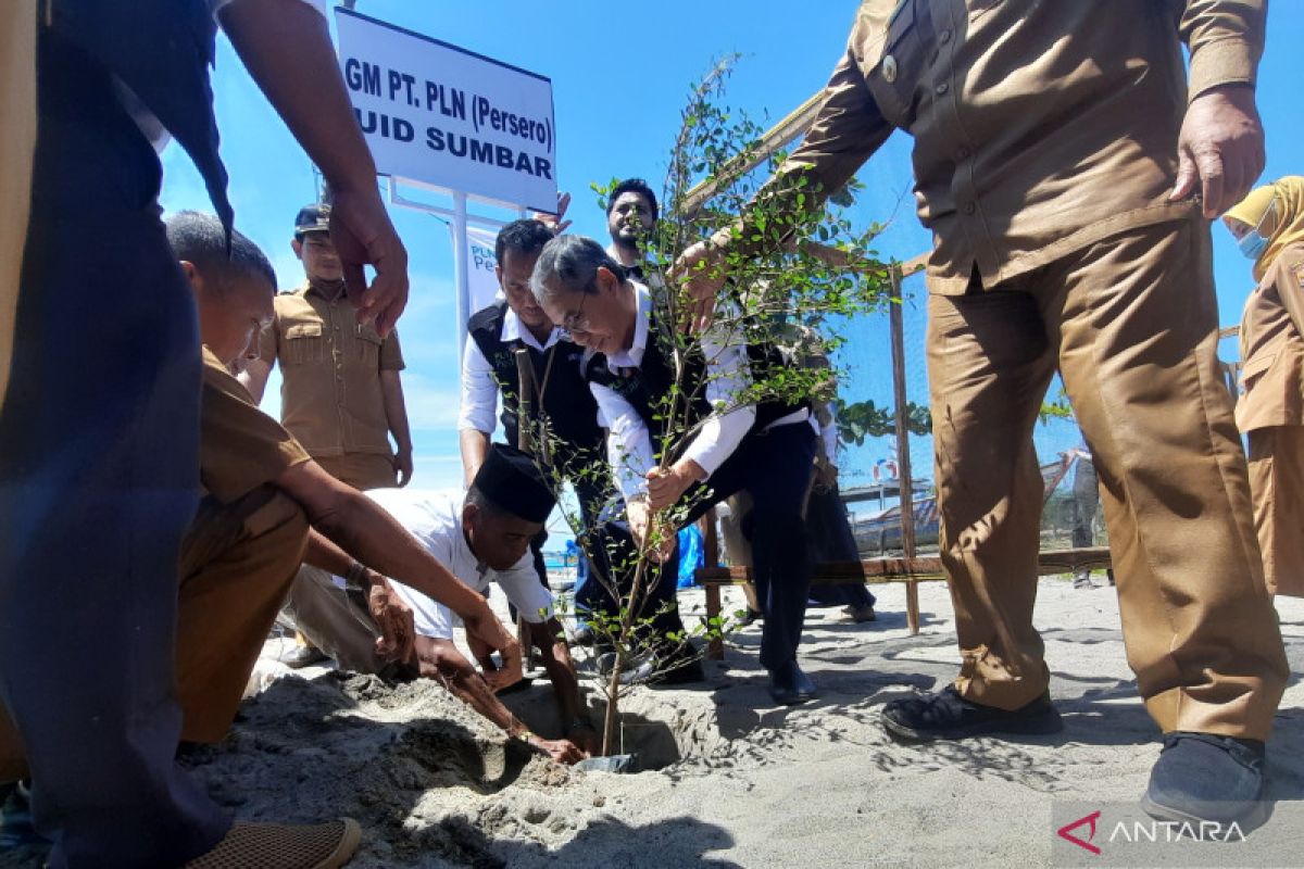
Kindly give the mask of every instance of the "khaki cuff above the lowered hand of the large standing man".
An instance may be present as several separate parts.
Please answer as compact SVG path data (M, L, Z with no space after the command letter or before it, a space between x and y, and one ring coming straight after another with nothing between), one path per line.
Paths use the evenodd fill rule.
M1253 85L1267 0L1185 0L1179 30L1191 50L1188 99L1219 85Z

